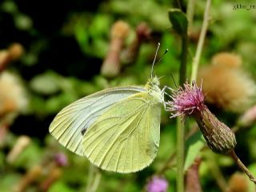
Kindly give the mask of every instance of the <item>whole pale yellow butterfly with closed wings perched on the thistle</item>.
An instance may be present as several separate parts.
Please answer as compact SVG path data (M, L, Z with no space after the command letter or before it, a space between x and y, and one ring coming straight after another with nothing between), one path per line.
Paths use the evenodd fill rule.
M51 122L50 134L102 170L144 169L158 152L165 106L165 88L152 76L146 86L117 86L71 103Z

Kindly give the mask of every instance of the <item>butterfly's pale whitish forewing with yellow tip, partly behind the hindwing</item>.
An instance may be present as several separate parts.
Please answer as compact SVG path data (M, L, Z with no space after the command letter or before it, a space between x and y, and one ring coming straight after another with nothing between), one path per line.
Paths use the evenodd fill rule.
M50 134L75 154L84 155L86 129L115 102L145 92L142 86L120 86L90 94L61 110L50 124Z

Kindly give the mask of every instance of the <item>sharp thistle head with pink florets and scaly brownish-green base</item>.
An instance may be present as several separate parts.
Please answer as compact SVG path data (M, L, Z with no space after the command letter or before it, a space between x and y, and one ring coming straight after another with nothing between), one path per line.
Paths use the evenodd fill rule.
M220 122L204 105L202 84L198 87L194 82L187 82L184 88L173 90L172 101L167 102L167 110L171 112L171 118L181 115L190 116L198 123L207 145L218 154L226 154L236 145L235 135L224 123Z

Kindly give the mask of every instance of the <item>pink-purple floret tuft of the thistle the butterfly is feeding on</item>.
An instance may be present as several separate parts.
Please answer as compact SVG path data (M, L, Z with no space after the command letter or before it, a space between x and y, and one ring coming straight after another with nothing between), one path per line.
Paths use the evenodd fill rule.
M167 102L167 110L171 112L171 117L186 116L194 112L194 110L202 110L204 108L204 94L202 93L202 83L198 87L195 82L190 85L188 82L184 87L180 86L178 90L171 89L173 94L170 96L172 101Z

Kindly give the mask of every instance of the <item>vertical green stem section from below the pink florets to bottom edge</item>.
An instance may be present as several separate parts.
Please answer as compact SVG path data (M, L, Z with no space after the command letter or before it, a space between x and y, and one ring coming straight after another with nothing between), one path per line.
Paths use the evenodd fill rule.
M185 127L181 118L177 118L177 191L184 192L184 151Z

